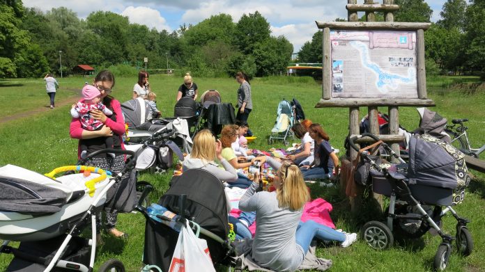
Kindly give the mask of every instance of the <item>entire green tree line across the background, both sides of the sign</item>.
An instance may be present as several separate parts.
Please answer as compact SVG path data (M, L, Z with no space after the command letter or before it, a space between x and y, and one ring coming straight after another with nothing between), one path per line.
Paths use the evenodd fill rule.
M400 6L395 22L430 22L433 10L424 0L394 3ZM426 72L484 75L485 0L447 0L440 15L442 19L424 32ZM383 15L376 14L376 20L383 21ZM141 69L145 57L149 69L168 66L204 77L233 76L243 70L263 77L284 72L293 53L284 36L271 35L270 24L258 11L242 15L236 23L231 15L213 15L169 33L130 24L128 17L109 11L79 19L68 8L44 13L24 8L22 1L0 0L0 30L0 78L60 74L59 61L63 74L79 64L97 70L113 65ZM297 61L321 63L322 38L317 31L302 46Z

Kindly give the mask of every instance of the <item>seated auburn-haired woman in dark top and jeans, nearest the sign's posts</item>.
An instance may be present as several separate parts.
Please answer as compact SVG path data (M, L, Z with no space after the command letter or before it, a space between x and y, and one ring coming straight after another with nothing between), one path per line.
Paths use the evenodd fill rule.
M335 175L339 170L339 158L330 145L330 137L318 124L311 124L308 128L310 137L315 141L314 161L309 166L302 166L304 180L330 179L335 168Z

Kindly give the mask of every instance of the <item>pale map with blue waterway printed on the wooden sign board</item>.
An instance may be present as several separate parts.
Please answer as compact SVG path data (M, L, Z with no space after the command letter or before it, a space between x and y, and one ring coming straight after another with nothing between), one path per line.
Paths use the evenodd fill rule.
M332 97L417 98L414 31L330 31Z

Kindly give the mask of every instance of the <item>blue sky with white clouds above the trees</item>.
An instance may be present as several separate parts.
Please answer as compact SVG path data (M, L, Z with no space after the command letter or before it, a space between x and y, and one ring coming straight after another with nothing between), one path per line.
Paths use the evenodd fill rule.
M445 0L425 0L433 10L432 22L440 19ZM150 29L171 32L180 25L197 24L211 15L226 13L238 22L243 14L256 10L271 26L272 35L284 35L292 44L293 51L300 51L302 45L311 41L318 28L315 21L334 21L346 18L346 0L24 0L24 6L47 11L61 6L85 19L97 10L111 11L127 16L131 23L145 24ZM363 3L364 0L357 0ZM381 1L378 1L382 3ZM360 14L359 14L360 15Z

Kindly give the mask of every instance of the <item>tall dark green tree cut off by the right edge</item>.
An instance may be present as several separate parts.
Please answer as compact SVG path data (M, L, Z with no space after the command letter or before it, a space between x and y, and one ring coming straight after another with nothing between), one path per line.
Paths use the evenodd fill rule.
M466 64L485 78L485 0L472 0L465 14Z

